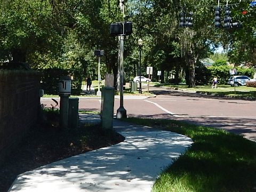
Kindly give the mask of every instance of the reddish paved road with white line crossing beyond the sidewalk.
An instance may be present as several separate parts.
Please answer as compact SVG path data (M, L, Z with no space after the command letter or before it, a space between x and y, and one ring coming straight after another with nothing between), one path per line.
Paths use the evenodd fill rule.
M145 91L147 90L144 87ZM156 98L142 100L125 99L124 108L128 117L170 118L191 123L226 129L243 134L245 138L256 141L256 101L215 98L196 93L165 90L150 87ZM50 106L54 102L42 99L41 103ZM115 99L114 112L119 108ZM100 110L100 99L79 99L79 109Z

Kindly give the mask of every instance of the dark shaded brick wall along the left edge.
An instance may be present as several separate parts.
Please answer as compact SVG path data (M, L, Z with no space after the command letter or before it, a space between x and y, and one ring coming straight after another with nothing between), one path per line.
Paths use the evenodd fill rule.
M37 121L40 75L0 70L0 163Z

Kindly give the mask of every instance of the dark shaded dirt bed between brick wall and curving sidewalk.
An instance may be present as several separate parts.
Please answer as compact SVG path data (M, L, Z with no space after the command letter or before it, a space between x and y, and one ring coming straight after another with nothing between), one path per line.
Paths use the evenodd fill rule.
M17 175L61 159L108 147L124 141L114 131L100 125L81 125L78 130L64 132L58 126L39 124L0 166L0 191L7 191Z

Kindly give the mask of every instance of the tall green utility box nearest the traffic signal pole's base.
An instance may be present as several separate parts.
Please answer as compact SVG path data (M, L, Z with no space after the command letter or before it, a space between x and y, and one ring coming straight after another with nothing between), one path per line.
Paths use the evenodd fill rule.
M102 87L101 93L101 127L113 129L115 88Z

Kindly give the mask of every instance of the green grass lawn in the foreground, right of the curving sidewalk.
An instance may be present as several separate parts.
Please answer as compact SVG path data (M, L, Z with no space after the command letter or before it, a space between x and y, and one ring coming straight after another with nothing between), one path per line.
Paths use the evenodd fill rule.
M193 145L155 181L153 192L256 191L256 143L240 135L167 119L127 118L187 135Z

